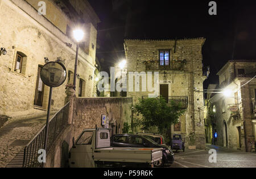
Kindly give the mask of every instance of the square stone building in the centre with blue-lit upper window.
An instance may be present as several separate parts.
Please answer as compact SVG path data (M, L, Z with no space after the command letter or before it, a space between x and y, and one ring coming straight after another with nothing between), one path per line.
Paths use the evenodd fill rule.
M138 72L134 76L143 76L143 72L152 72L152 81L159 72L159 81L148 84L147 80L134 83L128 74L128 84L139 84L139 91L127 86L127 97L133 97L133 103L139 98L151 95L152 90L148 85L156 85L159 89L157 96L162 95L167 101L174 100L183 104L186 112L180 117L180 122L170 126L171 134L183 134L186 147L188 147L188 135L195 131L196 147L205 148L204 131L204 97L202 47L205 39L181 39L181 40L125 40L125 53L127 59L127 73ZM146 74L144 74L146 76ZM132 77L133 78L133 77ZM147 89L143 90L143 83Z

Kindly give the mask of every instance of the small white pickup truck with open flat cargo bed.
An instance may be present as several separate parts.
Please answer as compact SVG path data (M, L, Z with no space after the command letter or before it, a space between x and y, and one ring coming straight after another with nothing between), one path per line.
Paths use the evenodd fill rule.
M110 147L110 132L106 128L82 131L69 153L69 167L152 167L162 159L162 148Z

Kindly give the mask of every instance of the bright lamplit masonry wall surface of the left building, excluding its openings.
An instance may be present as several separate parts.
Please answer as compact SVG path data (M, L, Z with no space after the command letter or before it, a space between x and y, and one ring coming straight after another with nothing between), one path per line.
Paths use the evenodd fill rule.
M49 11L54 13L55 11ZM73 72L76 45L26 1L1 0L0 47L5 47L7 55L0 56L0 114L10 117L45 112L48 105L49 88L45 86L43 106L34 106L38 66L44 65L44 57L55 61L65 59L65 67ZM58 14L56 14L58 15ZM8 23L6 23L8 22ZM89 38L96 48L97 30L88 24ZM92 36L91 36L92 35ZM65 43L73 44L67 47ZM88 53L80 49L77 73L85 81L82 97L92 97L94 90L95 48ZM22 73L15 71L17 52L22 53ZM90 76L93 78L91 79ZM64 106L65 84L53 89L52 110ZM73 82L73 80L71 80ZM79 80L77 80L79 89ZM78 90L77 90L78 93Z

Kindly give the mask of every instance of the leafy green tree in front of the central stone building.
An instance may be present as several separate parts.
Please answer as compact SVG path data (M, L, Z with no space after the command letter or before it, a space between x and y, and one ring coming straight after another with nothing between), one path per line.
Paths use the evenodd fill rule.
M134 126L139 126L142 130L148 130L150 127L157 127L160 134L166 134L171 124L179 121L179 116L185 113L180 103L170 101L166 102L163 97L139 99L134 105L134 112L141 115L136 118Z

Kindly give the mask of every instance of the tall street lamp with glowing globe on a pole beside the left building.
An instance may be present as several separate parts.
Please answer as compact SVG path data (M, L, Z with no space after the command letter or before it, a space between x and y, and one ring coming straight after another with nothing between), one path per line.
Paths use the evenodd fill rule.
M79 43L84 38L84 31L77 29L73 31L74 39L76 40L76 61L75 61L75 70L74 70L74 90L76 90L76 75L77 75L77 65L78 65L78 52L79 52Z

